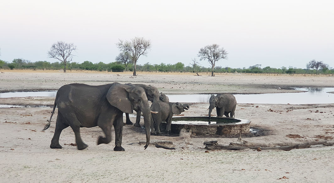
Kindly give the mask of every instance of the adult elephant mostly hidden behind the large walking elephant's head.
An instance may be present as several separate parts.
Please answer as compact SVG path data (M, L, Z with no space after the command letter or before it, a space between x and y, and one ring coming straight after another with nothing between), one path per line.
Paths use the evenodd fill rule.
M157 87L154 87L152 85L145 85L145 84L131 84L131 83L127 83L126 85L129 86L137 86L137 87L141 87L144 89L147 99L149 101L151 101L152 103L159 101L159 91ZM141 115L141 111L136 111L137 112L137 117L136 117L136 123L133 126L136 127L141 127L139 122L140 122L140 115ZM126 124L128 125L132 125L133 123L130 120L129 117L129 113L125 113L126 116Z

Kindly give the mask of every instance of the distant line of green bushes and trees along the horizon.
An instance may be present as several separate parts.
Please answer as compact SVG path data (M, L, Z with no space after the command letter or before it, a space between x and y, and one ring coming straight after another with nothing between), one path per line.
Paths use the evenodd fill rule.
M36 61L30 62L24 59L14 59L12 63L7 63L0 60L0 68L4 69L32 69L32 70L60 70L64 68L62 62L47 62L47 61ZM90 70L90 71L108 71L108 72L123 72L124 70L133 71L133 64L129 64L127 68L124 64L120 62L111 63L92 63L90 61L84 61L83 63L68 63L66 68L68 70ZM146 63L143 65L137 65L137 71L147 71L147 72L211 72L211 67L203 66L185 66L182 62L177 62L176 64L150 64ZM254 66L249 66L248 68L230 68L216 66L214 68L215 73L272 73L272 74L316 74L314 69L302 69L296 67L281 67L272 68L270 66L261 68L261 65L257 64ZM334 74L334 69L323 68L318 70L318 74Z

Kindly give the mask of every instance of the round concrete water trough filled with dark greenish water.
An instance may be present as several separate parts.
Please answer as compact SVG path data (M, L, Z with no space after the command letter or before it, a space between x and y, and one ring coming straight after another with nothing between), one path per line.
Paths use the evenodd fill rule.
M194 135L220 135L235 137L248 134L251 121L245 119L208 116L177 116L172 118L171 134L179 134L181 129L191 130ZM160 130L165 131L166 123L161 123Z

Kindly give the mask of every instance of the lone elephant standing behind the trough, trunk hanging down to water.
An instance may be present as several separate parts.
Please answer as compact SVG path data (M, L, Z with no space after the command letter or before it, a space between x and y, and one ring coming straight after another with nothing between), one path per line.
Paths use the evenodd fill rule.
M210 97L210 106L209 106L209 117L211 117L211 112L213 108L216 108L217 116L229 117L230 113L231 118L234 117L234 111L236 107L236 100L232 94L229 93L220 93L216 96L212 95Z

